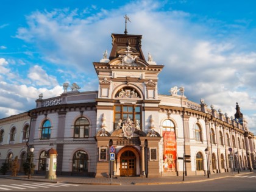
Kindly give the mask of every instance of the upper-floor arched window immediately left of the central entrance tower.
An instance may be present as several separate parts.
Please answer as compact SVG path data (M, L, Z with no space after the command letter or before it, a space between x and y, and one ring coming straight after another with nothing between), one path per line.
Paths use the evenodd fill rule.
M89 137L89 121L85 117L80 117L74 125L74 138Z

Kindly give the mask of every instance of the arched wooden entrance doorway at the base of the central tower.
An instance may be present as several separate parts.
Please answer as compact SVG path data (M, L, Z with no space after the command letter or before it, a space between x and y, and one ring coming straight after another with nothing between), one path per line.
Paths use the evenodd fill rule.
M136 155L132 151L124 151L120 157L120 176L136 176Z

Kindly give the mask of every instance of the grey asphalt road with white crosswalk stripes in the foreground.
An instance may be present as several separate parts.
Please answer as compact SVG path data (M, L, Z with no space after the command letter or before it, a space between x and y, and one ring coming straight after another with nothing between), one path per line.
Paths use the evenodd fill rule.
M256 174L172 185L81 185L0 179L0 191L256 191Z

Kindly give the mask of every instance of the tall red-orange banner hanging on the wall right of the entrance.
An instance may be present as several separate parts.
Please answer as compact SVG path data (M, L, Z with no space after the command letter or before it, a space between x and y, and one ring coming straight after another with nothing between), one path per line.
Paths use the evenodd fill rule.
M176 171L177 143L175 132L163 130L163 170Z

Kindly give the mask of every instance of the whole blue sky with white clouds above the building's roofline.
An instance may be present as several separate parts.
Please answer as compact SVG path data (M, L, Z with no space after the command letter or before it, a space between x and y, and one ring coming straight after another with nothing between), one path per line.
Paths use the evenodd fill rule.
M64 82L98 90L93 62L111 34L143 35L158 65L158 92L185 96L234 116L236 102L256 134L256 1L0 0L0 118L63 93Z

